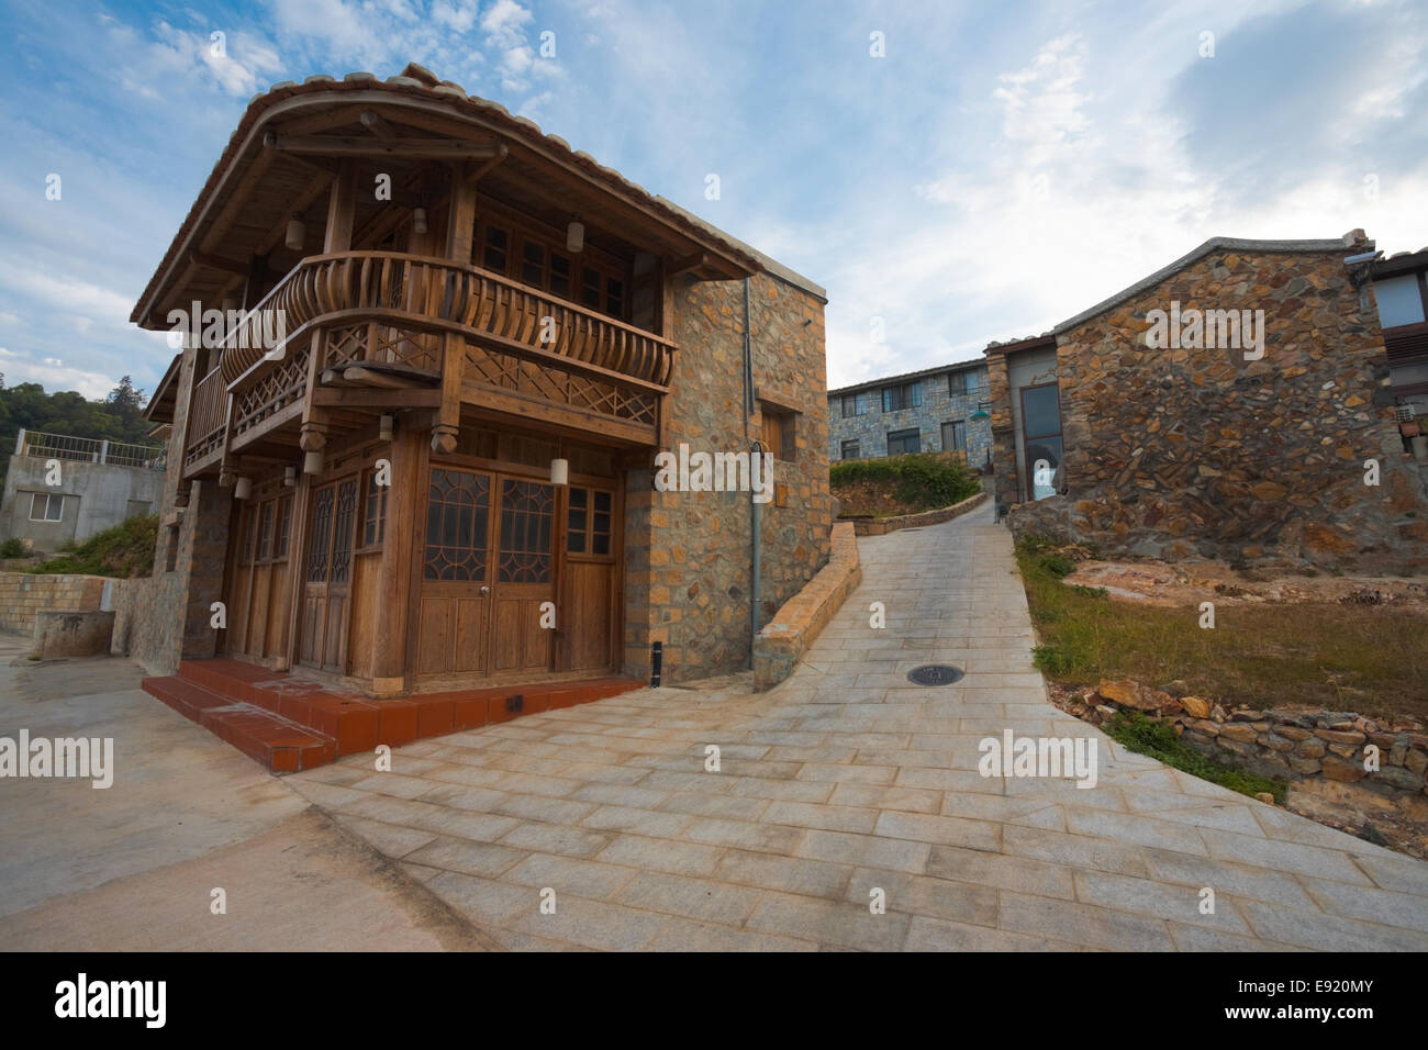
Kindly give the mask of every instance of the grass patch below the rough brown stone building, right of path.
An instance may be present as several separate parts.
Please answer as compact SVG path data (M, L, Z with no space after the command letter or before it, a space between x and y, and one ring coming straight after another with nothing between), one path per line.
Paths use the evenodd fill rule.
M1037 667L1071 686L1135 679L1184 680L1202 697L1265 709L1289 704L1428 720L1428 616L1394 606L1217 604L1201 630L1195 607L1112 601L1102 589L1067 586L1054 537L1017 543L1017 564L1037 624Z

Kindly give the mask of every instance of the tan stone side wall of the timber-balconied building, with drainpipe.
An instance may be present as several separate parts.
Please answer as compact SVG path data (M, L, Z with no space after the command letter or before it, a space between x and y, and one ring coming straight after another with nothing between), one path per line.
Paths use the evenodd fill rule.
M744 419L744 283L677 281L680 346L667 399L667 450L748 449ZM750 280L755 406L794 413L793 460L774 466L783 497L761 507L761 624L828 559L828 419L824 300L768 273ZM748 439L774 420L755 407ZM750 666L753 586L750 493L654 491L653 471L625 490L624 673L647 677L664 646L664 680Z

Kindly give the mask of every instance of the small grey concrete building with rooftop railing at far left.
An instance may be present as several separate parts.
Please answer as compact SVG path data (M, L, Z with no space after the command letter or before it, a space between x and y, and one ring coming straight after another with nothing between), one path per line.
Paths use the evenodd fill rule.
M0 499L0 539L53 551L157 513L163 493L163 449L21 430Z

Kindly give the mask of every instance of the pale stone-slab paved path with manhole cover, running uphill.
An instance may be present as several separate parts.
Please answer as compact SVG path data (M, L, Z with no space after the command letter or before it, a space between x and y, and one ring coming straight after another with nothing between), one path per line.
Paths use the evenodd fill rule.
M511 949L1428 949L1428 864L1047 701L990 507L860 547L861 589L770 693L641 690L287 783ZM967 676L912 686L928 661ZM1008 729L1095 740L1095 787L982 777Z

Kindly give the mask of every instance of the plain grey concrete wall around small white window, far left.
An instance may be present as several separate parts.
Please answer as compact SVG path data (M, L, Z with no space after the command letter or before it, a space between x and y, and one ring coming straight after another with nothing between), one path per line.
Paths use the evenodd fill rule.
M61 543L87 540L123 521L130 516L131 500L149 504L144 513L159 510L164 487L163 471L60 460L60 484L50 486L46 484L47 461L37 456L10 457L4 496L0 499L0 539L23 537L31 540L37 550L54 551ZM31 521L31 493L61 493L63 520Z

